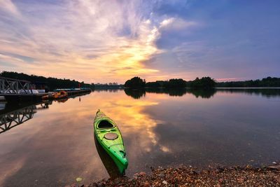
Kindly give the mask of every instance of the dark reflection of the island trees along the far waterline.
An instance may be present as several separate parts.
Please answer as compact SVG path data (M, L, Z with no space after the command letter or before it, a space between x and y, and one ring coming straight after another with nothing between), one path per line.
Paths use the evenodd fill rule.
M160 89L160 88L146 88L146 89L125 89L125 94L133 97L134 99L139 99L145 97L146 92L148 93L158 93L158 94L168 94L169 96L181 97L187 93L195 95L195 97L201 97L203 99L209 99L213 97L216 92L230 92L230 93L245 93L248 95L261 95L264 97L279 97L280 89Z

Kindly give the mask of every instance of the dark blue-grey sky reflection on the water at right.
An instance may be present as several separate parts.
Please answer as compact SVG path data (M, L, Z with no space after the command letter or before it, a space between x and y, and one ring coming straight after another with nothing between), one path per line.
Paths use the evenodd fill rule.
M163 121L153 130L158 141L174 153L155 153L158 163L165 163L162 157L197 166L275 159L275 147L280 144L276 125L279 105L267 103L262 97L231 94L233 97L226 97L218 92L207 100L185 95L162 101L156 109L148 106L144 112Z

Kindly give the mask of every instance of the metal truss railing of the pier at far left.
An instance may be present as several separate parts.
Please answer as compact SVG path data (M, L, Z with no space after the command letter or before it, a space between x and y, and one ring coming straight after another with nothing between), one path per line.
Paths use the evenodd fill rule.
M1 95L31 95L31 82L0 76Z

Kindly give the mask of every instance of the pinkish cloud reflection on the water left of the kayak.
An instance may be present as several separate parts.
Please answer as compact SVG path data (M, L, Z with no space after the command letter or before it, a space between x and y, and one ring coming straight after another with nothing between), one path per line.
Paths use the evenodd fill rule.
M40 183L61 186L66 181L73 183L77 175L89 176L96 172L96 179L106 175L102 164L99 164L99 158L93 156L96 155L90 125L93 117L83 118L83 114L77 118L75 112L83 111L83 107L74 107L77 106L77 100L52 104L50 110L38 113L25 125L5 134L6 137L0 137L3 140L0 141L1 148L6 145L6 153L3 149L0 153L6 161L1 162L0 172L10 173L10 176L6 175L0 183L4 186L16 186L18 183L27 186L34 183L34 179L38 179L38 186ZM15 137L15 134L18 136ZM99 167L92 167L93 165ZM27 177L27 174L30 177ZM45 174L48 177L45 177Z

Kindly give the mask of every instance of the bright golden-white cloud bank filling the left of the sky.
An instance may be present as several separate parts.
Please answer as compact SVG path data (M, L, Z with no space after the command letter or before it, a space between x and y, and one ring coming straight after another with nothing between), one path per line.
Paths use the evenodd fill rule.
M160 34L138 15L138 4L19 2L21 13L11 1L1 4L3 14L16 15L11 20L1 15L0 62L6 70L103 82L158 72L141 64L160 53L155 46Z

